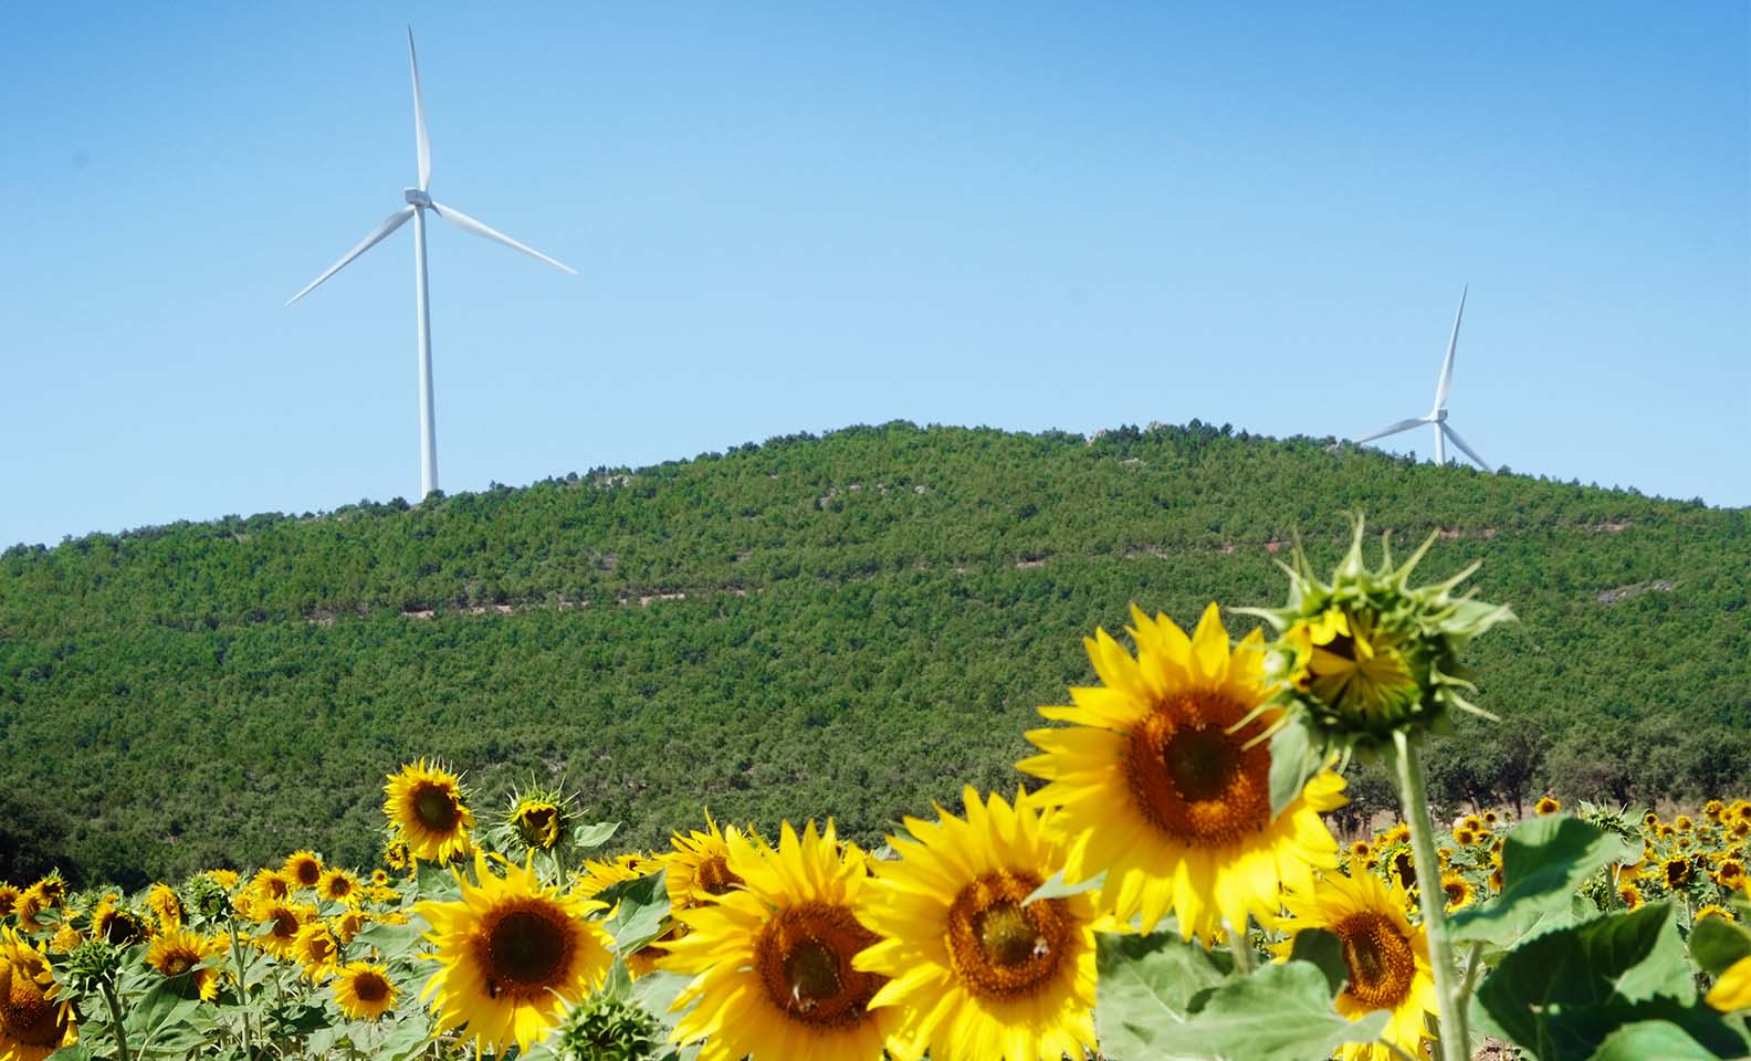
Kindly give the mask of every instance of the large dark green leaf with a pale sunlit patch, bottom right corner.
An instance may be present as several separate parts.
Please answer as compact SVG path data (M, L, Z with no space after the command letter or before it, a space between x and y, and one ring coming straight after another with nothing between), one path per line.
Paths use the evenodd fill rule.
M1481 1028L1543 1061L1588 1057L1637 1021L1670 1021L1723 1056L1744 1047L1697 1000L1669 903L1522 944L1478 986L1474 1012Z

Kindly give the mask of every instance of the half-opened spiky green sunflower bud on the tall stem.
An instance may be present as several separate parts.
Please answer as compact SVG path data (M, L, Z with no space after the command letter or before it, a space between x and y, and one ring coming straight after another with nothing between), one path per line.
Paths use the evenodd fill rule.
M1294 566L1282 566L1289 604L1243 609L1276 629L1268 672L1283 683L1280 700L1299 709L1326 749L1373 751L1390 744L1396 730L1443 730L1453 709L1494 718L1466 699L1476 686L1466 681L1459 655L1513 613L1469 594L1453 595L1478 564L1446 581L1411 587L1411 571L1436 538L1431 534L1401 566L1392 564L1383 538L1380 567L1369 569L1357 516L1350 552L1331 581L1313 574L1297 546Z

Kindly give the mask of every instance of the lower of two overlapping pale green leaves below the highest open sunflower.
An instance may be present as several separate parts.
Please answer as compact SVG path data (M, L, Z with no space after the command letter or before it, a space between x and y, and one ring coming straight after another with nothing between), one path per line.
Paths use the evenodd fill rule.
M1343 1043L1369 1043L1385 1031L1380 1010L1350 1021L1331 1003L1326 973L1306 961L1266 965L1250 977L1219 987L1191 1021L1126 1028L1147 1043L1131 1057L1222 1057L1245 1061L1306 1061L1329 1057Z

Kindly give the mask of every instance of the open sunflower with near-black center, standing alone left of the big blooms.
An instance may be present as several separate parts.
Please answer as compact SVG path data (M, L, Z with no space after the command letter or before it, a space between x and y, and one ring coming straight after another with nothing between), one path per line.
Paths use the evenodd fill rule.
M468 1024L476 1050L489 1043L522 1052L566 1017L613 965L613 940L588 914L602 903L543 888L531 867L504 877L475 853L475 884L455 874L462 896L415 907L431 923L425 938L440 963L422 998L436 994L438 1028Z

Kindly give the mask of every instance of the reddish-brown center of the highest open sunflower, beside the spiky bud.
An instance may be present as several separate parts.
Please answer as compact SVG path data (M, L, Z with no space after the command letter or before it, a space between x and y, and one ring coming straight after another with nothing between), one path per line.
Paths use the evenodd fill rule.
M1199 847L1231 844L1271 821L1271 751L1247 748L1264 732L1247 704L1219 692L1164 700L1131 730L1124 770L1131 798L1150 825Z

